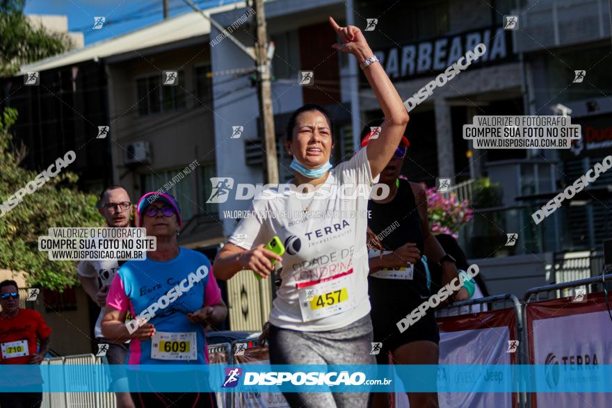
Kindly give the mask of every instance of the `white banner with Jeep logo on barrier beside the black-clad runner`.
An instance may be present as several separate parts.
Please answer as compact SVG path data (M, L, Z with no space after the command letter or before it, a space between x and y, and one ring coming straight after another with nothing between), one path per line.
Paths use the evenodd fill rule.
M440 364L510 364L508 327L440 332ZM465 377L440 377L439 381L472 382L472 373ZM444 373L442 373L444 376ZM408 408L405 393L396 393L396 408ZM440 408L496 407L512 408L511 393L439 393Z

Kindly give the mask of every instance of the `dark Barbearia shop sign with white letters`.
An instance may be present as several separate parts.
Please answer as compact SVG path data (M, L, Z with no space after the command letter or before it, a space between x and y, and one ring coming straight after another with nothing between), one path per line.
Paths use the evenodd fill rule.
M515 54L512 50L511 31L491 27L443 38L407 44L402 47L377 49L374 55L385 67L391 79L414 79L417 76L433 76L446 70L484 42L487 51L475 60L474 67L508 62ZM472 70L474 67L470 67Z

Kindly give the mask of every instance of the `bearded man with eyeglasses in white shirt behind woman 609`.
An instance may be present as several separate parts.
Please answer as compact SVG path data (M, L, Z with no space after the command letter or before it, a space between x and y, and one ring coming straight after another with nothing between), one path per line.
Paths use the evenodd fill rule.
M102 191L99 198L99 213L106 220L108 227L128 228L132 209L131 200L127 191L121 186L108 186ZM100 313L94 328L94 335L98 344L108 344L106 359L108 364L125 364L129 342L117 341L113 338L104 338L100 323L104 316L106 295L113 282L113 277L120 267L115 259L79 262L79 281L91 299L100 307ZM106 347L106 346L105 346ZM97 350L96 350L97 351ZM118 380L118 379L115 379ZM118 408L133 408L134 402L129 393L115 393Z

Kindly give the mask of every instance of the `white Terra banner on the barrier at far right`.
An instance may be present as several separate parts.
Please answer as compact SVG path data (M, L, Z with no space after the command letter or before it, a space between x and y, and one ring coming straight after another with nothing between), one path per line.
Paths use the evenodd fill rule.
M612 364L612 323L607 311L533 320L533 364L546 364L546 381L558 386L558 366L588 370ZM550 368L550 369L549 369ZM538 393L538 408L610 407L605 393Z

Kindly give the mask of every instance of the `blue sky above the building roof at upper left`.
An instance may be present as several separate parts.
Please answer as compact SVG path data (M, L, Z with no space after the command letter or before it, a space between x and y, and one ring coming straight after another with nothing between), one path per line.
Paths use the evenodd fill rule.
M232 3L231 0L192 0L200 8ZM170 17L191 10L184 0L169 0ZM80 31L85 44L117 37L163 19L163 0L26 0L24 13L67 15L68 30ZM94 17L105 17L102 29L93 30Z

